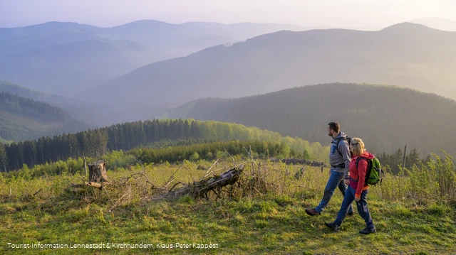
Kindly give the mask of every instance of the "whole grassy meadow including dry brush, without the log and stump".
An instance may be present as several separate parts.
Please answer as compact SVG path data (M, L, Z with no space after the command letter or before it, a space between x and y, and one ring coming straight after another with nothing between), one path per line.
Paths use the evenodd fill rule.
M233 166L230 158L217 166L137 163L108 171L111 185L79 192L71 185L87 180L80 172L31 180L0 175L0 253L456 254L454 197L442 190L444 180L432 175L450 161L433 163L436 168L429 164L405 177L387 174L382 185L371 187L368 205L378 232L368 236L358 234L365 227L358 214L346 218L341 232L324 226L341 205L338 190L321 215L304 212L321 199L328 168L246 161L237 184L225 187L219 198L211 193L209 200L160 199L157 190L223 173ZM199 165L212 168L197 170ZM144 249L145 244L152 246Z

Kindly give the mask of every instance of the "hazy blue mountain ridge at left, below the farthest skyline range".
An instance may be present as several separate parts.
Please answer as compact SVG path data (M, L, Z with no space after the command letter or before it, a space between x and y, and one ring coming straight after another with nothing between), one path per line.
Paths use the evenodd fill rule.
M110 43L83 40L3 56L0 77L71 97L136 66Z

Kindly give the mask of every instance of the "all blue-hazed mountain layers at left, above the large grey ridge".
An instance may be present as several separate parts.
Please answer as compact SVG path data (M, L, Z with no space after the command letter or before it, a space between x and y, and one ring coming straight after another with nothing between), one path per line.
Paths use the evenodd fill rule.
M161 21L113 28L61 22L0 28L0 79L74 97L142 65L283 29L311 28Z

